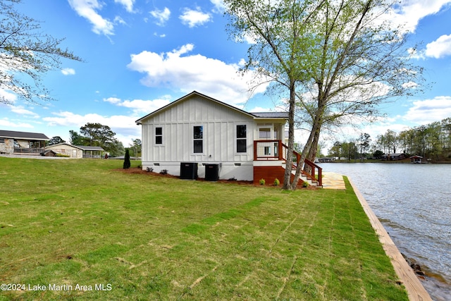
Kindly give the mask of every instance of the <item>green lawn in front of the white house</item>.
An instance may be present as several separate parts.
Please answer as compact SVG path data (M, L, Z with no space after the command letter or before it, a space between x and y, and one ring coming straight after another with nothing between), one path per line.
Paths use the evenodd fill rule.
M26 285L0 300L407 300L348 182L285 192L122 164L0 157L0 283Z

